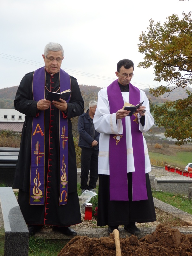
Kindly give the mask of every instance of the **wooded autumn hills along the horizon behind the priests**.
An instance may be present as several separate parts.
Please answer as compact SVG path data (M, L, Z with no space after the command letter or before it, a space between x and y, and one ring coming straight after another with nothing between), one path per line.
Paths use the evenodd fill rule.
M85 101L85 109L88 108L88 104L90 100L97 100L97 94L99 92L100 87L97 86L89 86L89 85L84 85L80 84L79 85L83 99ZM12 86L8 88L3 88L0 89L0 108L14 108L13 105L13 100L15 98L15 94L17 91L18 86ZM171 87L173 88L173 87ZM187 87L187 89L192 92L191 87ZM146 88L143 90L148 99L150 98L153 103L163 103L164 101L173 101L173 100L178 100L178 99L184 99L187 98L187 94L185 90L182 88L177 88L173 90L170 94L166 93L163 96L160 97L154 97L153 95L149 94L149 88Z

